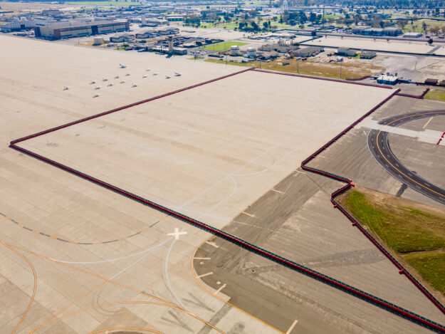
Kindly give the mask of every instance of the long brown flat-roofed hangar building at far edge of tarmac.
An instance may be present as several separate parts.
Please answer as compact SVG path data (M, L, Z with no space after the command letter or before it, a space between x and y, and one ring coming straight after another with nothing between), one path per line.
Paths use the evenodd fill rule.
M61 39L130 30L128 21L64 22L34 28L36 37Z

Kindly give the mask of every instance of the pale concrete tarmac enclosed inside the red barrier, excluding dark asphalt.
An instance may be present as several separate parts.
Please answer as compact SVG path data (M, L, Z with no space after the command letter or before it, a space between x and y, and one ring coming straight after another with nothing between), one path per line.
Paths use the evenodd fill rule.
M391 93L248 71L19 146L220 227Z

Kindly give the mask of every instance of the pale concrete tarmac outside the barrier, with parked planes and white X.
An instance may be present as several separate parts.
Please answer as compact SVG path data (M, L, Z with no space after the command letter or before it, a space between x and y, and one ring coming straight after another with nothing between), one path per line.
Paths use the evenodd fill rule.
M210 333L277 333L197 286L192 256L209 234L8 147L14 137L239 68L23 38L0 41L11 50L0 62L2 330L199 333L211 322L217 329L209 327ZM159 80L143 82L145 68L159 71ZM91 98L90 80L127 71L140 75L138 89L124 85L101 101ZM167 71L182 76L166 80Z

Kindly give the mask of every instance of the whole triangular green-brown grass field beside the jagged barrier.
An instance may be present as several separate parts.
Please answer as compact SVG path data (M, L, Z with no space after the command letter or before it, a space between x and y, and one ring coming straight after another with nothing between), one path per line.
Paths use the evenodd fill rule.
M403 199L382 200L381 195L354 190L347 192L342 202L425 281L445 295L445 215L405 207Z

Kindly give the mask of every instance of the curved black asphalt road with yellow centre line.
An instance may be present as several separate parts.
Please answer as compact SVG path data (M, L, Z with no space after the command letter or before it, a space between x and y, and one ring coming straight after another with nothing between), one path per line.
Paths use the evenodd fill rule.
M395 115L380 121L379 124L397 127L412 120L439 115L445 116L445 110L418 111L404 115ZM389 147L388 138L389 132L382 130L371 130L368 135L368 147L377 162L379 162L389 174L392 174L393 177L399 179L400 182L407 184L408 187L445 204L445 189L430 184L416 172L413 172L402 165L402 162L397 159L392 152L391 147Z

